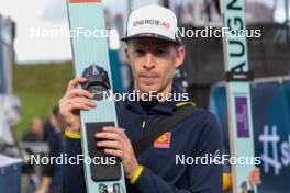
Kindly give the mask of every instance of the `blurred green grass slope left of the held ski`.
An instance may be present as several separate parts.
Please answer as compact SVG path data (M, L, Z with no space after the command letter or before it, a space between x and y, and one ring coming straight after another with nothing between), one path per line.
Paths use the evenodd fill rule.
M13 94L22 102L22 121L14 132L21 139L33 116L45 121L74 77L71 63L13 66Z

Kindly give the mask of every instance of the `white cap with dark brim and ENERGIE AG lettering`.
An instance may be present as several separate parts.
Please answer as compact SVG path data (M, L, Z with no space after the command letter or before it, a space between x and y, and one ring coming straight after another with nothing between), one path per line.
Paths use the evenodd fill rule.
M127 19L126 36L122 41L133 38L159 38L181 44L177 36L177 18L175 13L160 5L146 5L133 11Z

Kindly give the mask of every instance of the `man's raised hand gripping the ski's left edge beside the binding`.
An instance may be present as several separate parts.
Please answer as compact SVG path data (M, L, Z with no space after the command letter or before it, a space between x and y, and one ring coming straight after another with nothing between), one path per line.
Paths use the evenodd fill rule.
M88 111L96 106L96 103L90 100L93 98L93 94L87 90L77 88L78 84L86 81L82 77L71 80L68 83L65 95L59 100L59 112L67 123L67 129L72 134L80 132L79 111Z

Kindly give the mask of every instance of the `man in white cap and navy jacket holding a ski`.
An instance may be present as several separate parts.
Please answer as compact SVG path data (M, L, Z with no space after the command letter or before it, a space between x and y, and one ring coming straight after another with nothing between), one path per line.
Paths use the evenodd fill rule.
M134 88L141 93L180 93L172 76L185 58L185 47L176 37L177 19L168 9L148 5L131 13L127 22L126 58L131 65ZM68 84L59 101L59 110L67 122L66 154L81 155L79 110L97 107L89 91L77 89L86 82L76 78ZM133 92L131 90L131 92ZM132 143L144 136L153 125L170 116L177 101L116 102L119 127L104 127L96 134L109 156L121 159L129 193L219 193L222 192L222 166L176 163L176 156L202 157L221 151L221 128L216 117L205 110L196 110L189 117L169 129L163 140L154 143L138 157ZM125 132L124 132L125 129ZM96 148L97 148L96 147ZM82 166L65 167L65 192L86 192Z

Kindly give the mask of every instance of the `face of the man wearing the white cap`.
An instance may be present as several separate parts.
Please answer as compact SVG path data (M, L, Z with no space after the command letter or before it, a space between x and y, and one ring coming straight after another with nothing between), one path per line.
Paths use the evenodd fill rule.
M129 42L126 57L132 67L135 89L142 92L170 92L175 69L185 58L185 48L166 41L141 38Z

